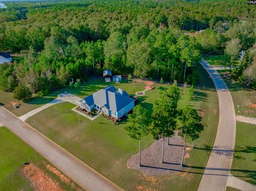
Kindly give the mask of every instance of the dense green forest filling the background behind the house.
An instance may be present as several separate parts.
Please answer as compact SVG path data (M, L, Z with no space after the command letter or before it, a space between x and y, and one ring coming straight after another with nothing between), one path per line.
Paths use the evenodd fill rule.
M45 95L110 69L195 84L202 53L241 67L231 76L256 88L255 12L247 1L51 1L5 3L0 51L23 59L0 66L0 87ZM201 32L198 32L202 30Z

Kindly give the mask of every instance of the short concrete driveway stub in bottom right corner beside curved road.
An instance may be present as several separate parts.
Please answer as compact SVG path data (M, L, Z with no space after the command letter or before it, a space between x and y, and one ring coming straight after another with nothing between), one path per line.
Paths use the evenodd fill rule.
M243 191L255 191L256 186L249 184L246 181L243 181L239 178L234 177L233 175L229 174L227 186L233 187Z

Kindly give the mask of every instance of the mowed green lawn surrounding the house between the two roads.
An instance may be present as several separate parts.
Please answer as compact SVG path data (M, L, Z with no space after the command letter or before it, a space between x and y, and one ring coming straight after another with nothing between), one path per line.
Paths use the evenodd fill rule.
M215 132L218 124L218 97L213 89L212 82L205 71L202 77L204 89L198 88L193 105L202 110L205 130L194 144L197 148L211 146L214 142ZM113 83L110 83L113 84ZM114 83L116 88L122 87L129 94L145 89L143 82ZM91 87L90 87L91 86ZM73 93L85 97L96 90L106 86L102 79L92 79ZM153 101L159 97L159 92L167 90L170 85L156 84L155 89L148 90L145 96L139 97L140 103L150 111ZM189 103L189 93L186 88L181 89L181 100L179 107L182 108ZM67 89L68 90L68 89ZM109 120L102 117L90 121L80 116L82 123L77 123L77 114L71 111L75 105L71 103L60 103L37 113L29 118L27 122L55 143L74 154L78 159L90 165L103 176L113 181L125 190L196 190L202 176L203 168L207 162L209 152L196 149L189 151L190 157L186 159L186 165L198 168L186 168L186 172L174 175L163 175L147 177L141 172L127 168L126 162L131 155L138 152L138 140L131 139L126 135L124 126L126 122L115 126ZM142 138L142 148L147 148L153 143L152 137ZM206 146L205 146L206 145Z

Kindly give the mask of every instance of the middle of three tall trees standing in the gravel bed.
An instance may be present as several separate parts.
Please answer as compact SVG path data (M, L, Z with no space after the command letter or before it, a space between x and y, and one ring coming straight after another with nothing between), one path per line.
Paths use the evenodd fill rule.
M167 92L161 92L160 98L153 103L151 134L156 140L163 139L162 162L164 161L164 137L171 137L177 129L179 98L179 88L174 85Z

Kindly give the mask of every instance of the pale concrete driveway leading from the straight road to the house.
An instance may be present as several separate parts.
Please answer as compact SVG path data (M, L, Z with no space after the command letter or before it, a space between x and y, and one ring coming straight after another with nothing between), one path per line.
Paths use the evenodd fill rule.
M81 101L82 98L81 97L77 97L73 94L59 94L58 97L56 99L54 99L53 101L45 104L45 105L42 105L41 107L37 107L35 110L32 110L22 116L20 116L20 120L22 121L26 121L28 118L32 117L33 115L35 115L36 113L38 112L41 112L43 110L45 110L46 108L52 106L52 105L55 105L57 103L61 103L61 102L70 102L70 103L73 103L75 105L79 105L79 101Z

